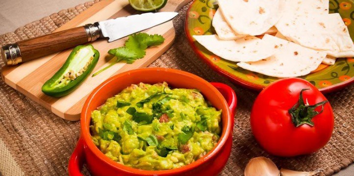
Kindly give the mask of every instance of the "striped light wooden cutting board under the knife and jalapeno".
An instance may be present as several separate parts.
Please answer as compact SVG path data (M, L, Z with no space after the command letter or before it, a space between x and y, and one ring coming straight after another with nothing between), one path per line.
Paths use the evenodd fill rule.
M168 0L166 6L160 11L178 11L190 1L191 0ZM73 20L64 24L55 32L82 26L87 23L139 13L140 12L134 10L129 5L128 0L103 0L76 16ZM172 21L152 27L144 32L163 35L165 42L157 47L148 48L146 56L143 59L135 61L133 64L118 63L95 77L89 76L75 91L61 98L47 96L42 92L41 88L43 84L64 64L72 49L51 54L18 66L5 66L1 72L1 77L6 84L41 104L46 109L51 110L56 115L66 120L79 120L82 106L87 96L94 88L113 75L131 69L149 66L172 45L175 39L175 29ZM113 62L115 59L109 56L107 53L108 50L123 46L125 41L126 38L123 38L108 43L107 40L101 39L91 43L100 51L100 59L93 70L93 73Z

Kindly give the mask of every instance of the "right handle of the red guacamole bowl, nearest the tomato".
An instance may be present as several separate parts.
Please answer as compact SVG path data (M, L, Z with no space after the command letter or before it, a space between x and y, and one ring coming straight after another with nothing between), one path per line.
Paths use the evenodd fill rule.
M213 85L215 88L217 88L220 93L224 96L226 102L228 102L228 108L231 111L232 115L232 127L234 124L234 114L235 114L235 109L237 105L237 98L236 98L236 93L235 91L230 88L228 85L223 84L223 83L210 83Z

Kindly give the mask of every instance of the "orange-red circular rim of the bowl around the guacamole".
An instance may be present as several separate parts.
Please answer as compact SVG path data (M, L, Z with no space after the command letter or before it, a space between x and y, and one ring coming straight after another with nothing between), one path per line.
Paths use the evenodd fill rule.
M170 170L149 171L149 170L135 169L135 168L131 168L131 167L125 166L123 164L120 164L116 161L113 161L108 156L104 155L91 140L91 133L89 130L89 125L90 125L90 121L91 121L91 111L89 111L88 109L89 109L89 105L91 104L91 102L95 101L95 96L100 92L101 88L105 87L108 83L114 81L115 79L118 79L119 77L127 76L127 75L129 75L131 73L135 73L135 72L144 72L144 71L156 71L156 72L164 71L164 72L171 72L173 74L176 74L176 76L191 77L192 79L195 79L196 81L201 82L203 85L205 85L206 87L211 89L213 91L213 96L217 96L218 99L220 99L222 101L221 102L222 107L226 110L226 112L223 111L223 113L227 113L227 115L226 115L227 126L223 127L222 134L221 134L220 139L219 139L218 143L216 144L216 146L214 146L214 148L211 151L209 151L207 154L205 154L202 158L199 158L198 160L192 162L191 164L188 164L188 165L182 166L180 168L176 168L176 169L170 169ZM98 158L100 158L101 162L105 162L106 164L110 165L111 167L114 167L115 169L119 169L119 170L122 170L123 172L130 173L130 174L139 173L140 175L168 175L171 173L179 174L179 173L183 173L183 172L192 170L192 169L206 163L210 159L216 157L218 153L222 152L221 150L223 149L229 135L232 135L232 128L231 128L232 119L231 118L233 118L233 116L231 114L232 113L230 112L228 103L225 100L225 98L223 97L223 95L219 92L219 90L217 88L215 88L214 86L212 86L206 80L202 79L201 77L194 75L192 73L186 72L186 71L172 69L172 68L158 68L158 67L140 68L140 69L134 69L134 70L126 71L126 72L120 73L118 75L115 75L115 76L107 79L103 83L101 83L100 86L95 88L90 93L90 95L88 96L88 98L86 99L86 101L84 103L84 106L83 106L82 112L81 112L81 118L80 118L81 137L85 141L85 144L87 145L87 147L86 147L87 149L89 149L93 154L95 154ZM222 118L223 118L223 116L222 116ZM224 119L222 119L222 120L224 120Z

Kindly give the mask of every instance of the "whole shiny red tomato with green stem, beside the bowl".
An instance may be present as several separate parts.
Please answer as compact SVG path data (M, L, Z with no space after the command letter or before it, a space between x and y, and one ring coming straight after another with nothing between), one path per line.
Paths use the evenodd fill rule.
M317 108L311 108L315 104ZM292 108L294 116L289 111ZM300 78L281 79L263 89L251 112L254 137L264 150L278 156L317 152L329 141L333 126L333 111L326 97Z

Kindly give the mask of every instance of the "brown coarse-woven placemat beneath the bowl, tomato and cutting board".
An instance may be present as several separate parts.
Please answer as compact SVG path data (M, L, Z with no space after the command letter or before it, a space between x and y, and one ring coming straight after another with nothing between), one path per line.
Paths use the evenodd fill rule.
M62 10L20 27L15 32L1 35L0 45L51 33L94 3L87 2L75 8ZM238 106L233 130L233 149L228 164L221 173L222 176L243 175L248 160L261 155L270 157L279 167L302 171L323 168L325 172L321 174L322 176L332 175L354 161L353 86L327 95L334 110L335 128L326 147L316 154L293 158L274 157L264 152L254 140L249 122L250 110L257 92L232 85L196 57L183 31L188 6L183 7L174 20L177 33L175 44L151 66L182 69L208 81L226 83L235 89ZM0 66L3 65L0 61ZM10 159L16 163L7 162L6 158L0 158L0 162L10 167L11 175L21 173L31 176L67 175L68 160L80 133L79 122L69 122L57 117L5 85L2 80L0 80L0 122L0 139L10 153L7 157L11 157ZM0 154L6 153L3 148L0 150ZM17 165L19 167L16 167ZM5 174L4 171L0 172ZM84 173L87 174L87 171L84 170Z

